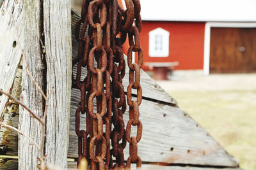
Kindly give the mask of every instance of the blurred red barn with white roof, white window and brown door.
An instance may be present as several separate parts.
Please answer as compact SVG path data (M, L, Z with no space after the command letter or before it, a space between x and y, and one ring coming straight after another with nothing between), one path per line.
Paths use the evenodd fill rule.
M140 2L144 63L179 62L175 69L205 74L256 71L256 1Z

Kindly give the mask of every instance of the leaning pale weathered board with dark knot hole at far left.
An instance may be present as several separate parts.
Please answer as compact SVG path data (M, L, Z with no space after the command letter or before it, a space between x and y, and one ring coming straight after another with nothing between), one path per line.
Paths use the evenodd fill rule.
M1 2L0 2L1 3ZM10 92L13 85L13 79L20 62L21 50L17 46L17 34L11 16L4 10L4 6L0 8L0 89ZM22 4L15 3L15 0L6 0L5 7L13 15L15 24L19 27L19 35L23 34L23 15ZM8 100L6 96L0 96L0 116L5 104Z

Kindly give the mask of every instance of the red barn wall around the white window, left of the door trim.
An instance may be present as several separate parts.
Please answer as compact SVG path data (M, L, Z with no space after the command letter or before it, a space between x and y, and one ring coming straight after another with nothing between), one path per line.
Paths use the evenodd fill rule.
M161 27L170 32L169 56L149 57L148 32ZM179 62L174 69L203 69L204 67L204 22L145 22L140 33L144 62ZM127 54L128 43L124 45ZM138 61L136 53L136 62ZM143 66L143 69L148 69Z

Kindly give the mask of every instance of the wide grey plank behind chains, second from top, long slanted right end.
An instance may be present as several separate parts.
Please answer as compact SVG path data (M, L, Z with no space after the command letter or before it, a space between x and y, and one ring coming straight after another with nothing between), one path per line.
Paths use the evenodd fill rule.
M72 89L68 157L77 157L75 113L79 107L79 96L79 90ZM124 114L125 124L128 115L127 110ZM143 135L138 143L138 154L144 162L228 167L238 165L218 142L180 108L143 99L140 120ZM85 124L85 117L81 118L81 122ZM81 129L84 128L85 125L81 126ZM129 155L128 149L124 151L125 159Z

